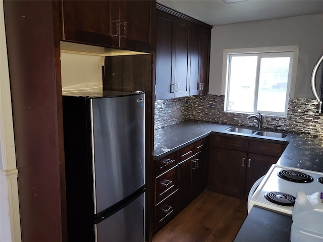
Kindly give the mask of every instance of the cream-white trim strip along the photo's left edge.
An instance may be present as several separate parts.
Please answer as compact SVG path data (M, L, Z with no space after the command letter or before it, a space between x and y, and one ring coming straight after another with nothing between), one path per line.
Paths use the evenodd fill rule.
M0 1L0 241L21 241L4 5Z

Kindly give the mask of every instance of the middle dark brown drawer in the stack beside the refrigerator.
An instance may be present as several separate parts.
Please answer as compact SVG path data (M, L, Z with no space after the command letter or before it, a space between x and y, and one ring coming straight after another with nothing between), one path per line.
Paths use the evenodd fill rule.
M155 178L155 203L174 193L178 187L178 167L174 167L169 171Z

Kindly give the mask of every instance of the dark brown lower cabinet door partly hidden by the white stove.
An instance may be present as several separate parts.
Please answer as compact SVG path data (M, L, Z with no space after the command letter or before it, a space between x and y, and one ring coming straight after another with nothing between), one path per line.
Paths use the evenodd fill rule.
M246 172L246 195L248 195L252 185L267 173L268 169L278 161L279 158L248 153L247 172Z

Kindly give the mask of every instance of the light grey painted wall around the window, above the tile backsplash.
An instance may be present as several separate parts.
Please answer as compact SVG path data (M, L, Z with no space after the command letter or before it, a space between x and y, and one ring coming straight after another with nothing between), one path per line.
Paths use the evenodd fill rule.
M323 14L214 26L211 34L209 94L221 93L223 50L299 45L294 97L314 98L310 78L323 53Z

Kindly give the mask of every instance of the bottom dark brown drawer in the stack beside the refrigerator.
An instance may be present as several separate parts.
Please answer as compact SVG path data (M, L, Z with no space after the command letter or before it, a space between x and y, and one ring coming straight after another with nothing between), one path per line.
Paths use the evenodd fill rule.
M154 213L154 232L164 227L176 215L177 191L166 198L163 202L155 206Z

